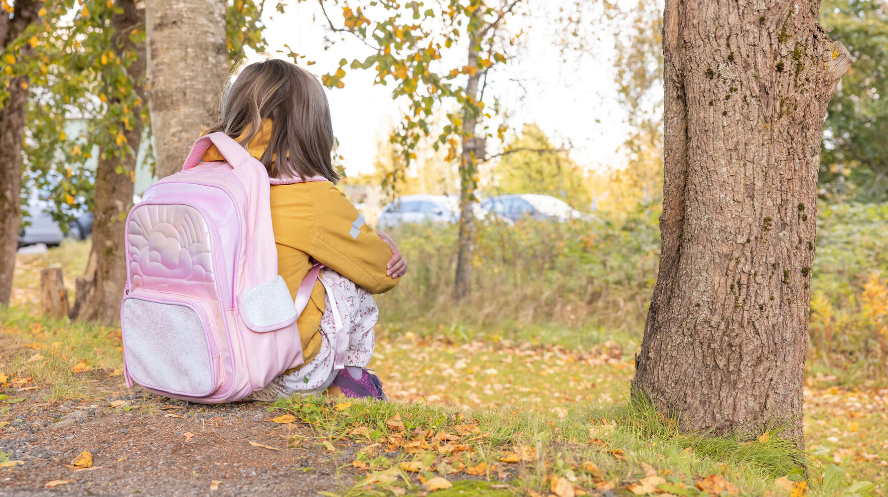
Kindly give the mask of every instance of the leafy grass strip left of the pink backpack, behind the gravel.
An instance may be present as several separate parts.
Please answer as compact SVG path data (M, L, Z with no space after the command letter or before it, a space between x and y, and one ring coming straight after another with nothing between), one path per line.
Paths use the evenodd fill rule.
M45 400L55 401L81 395L97 371L121 373L118 328L31 317L24 309L2 307L0 323L0 374L6 376L5 390L49 387Z

